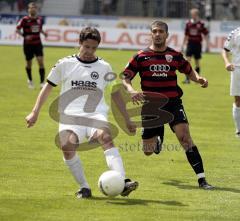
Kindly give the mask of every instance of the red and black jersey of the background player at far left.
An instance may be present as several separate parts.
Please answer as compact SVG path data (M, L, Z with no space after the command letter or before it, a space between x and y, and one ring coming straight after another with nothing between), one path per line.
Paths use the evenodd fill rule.
M40 33L42 31L43 19L40 16L32 18L24 16L17 24L17 29L23 29L24 44L41 44Z

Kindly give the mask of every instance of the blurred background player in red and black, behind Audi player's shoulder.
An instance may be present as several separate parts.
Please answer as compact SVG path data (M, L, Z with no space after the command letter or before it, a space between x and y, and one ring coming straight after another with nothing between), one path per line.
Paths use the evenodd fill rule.
M183 48L187 45L186 56L187 60L191 62L191 57L195 60L195 70L200 74L200 59L202 57L202 39L206 41L206 50L209 51L208 29L205 27L203 21L199 18L199 10L193 8L190 10L191 19L185 26L185 35L183 39ZM186 77L183 83L189 84L190 80Z

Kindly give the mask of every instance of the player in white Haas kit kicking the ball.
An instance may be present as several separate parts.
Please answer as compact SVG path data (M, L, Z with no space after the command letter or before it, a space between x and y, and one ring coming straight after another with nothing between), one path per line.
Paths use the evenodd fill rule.
M52 88L61 84L58 108L59 141L64 162L80 186L76 193L78 198L92 196L81 160L76 153L77 148L81 149L85 138L98 141L103 147L109 169L118 171L125 177L122 158L113 144L107 124L108 106L104 101L103 92L109 83L106 76L112 69L107 62L95 55L100 41L97 29L86 27L81 30L79 54L60 59L52 68L32 112L26 117L27 126L33 126ZM79 123L81 117L82 125ZM136 129L131 122L127 122L127 126L130 132ZM137 186L138 182L125 179L125 188L121 195L128 196Z

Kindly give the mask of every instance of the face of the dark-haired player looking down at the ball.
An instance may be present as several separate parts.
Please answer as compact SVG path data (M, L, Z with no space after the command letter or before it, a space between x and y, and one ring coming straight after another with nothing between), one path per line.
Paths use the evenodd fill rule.
M96 59L95 52L98 48L96 40L87 39L81 42L80 45L80 58L84 61L92 61Z

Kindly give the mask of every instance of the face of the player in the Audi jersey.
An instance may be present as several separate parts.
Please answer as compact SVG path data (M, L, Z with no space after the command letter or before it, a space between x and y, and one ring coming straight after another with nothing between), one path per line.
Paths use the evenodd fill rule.
M168 37L168 33L166 32L163 26L152 27L151 34L152 34L152 41L154 45L158 47L165 45L166 39Z

